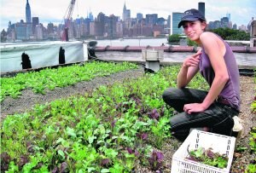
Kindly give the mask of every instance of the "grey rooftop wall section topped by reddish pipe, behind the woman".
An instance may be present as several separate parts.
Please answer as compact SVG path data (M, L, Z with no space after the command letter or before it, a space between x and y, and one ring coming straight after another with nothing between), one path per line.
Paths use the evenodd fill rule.
M197 48L193 46L129 46L129 47L96 47L96 56L102 61L133 61L144 63L142 57L143 49L163 49L164 60L160 61L163 65L181 64L188 55L195 54ZM256 48L247 46L231 47L236 57L239 68L256 68Z

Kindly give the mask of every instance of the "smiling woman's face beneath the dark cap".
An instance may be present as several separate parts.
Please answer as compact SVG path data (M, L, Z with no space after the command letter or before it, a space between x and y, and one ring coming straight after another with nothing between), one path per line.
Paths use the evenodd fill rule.
M190 40L200 42L200 35L206 29L207 24L200 20L186 21L183 25L184 33Z

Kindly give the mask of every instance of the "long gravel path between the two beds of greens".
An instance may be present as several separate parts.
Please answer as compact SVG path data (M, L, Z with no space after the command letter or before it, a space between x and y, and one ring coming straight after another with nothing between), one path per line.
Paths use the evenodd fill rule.
M66 98L71 95L83 95L85 92L96 89L100 85L110 85L114 82L123 81L125 78L139 78L143 76L143 67L137 70L129 70L125 72L114 73L110 76L94 78L90 81L80 82L73 86L65 88L55 88L55 90L47 90L45 95L34 94L32 89L24 89L18 99L7 97L1 103L1 119L9 114L22 113L31 109L36 104L44 104L56 99Z

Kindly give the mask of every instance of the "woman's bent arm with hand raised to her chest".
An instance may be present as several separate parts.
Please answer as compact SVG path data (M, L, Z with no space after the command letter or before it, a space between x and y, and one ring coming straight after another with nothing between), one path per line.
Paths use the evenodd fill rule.
M201 50L199 50L195 55L188 56L183 61L183 66L181 67L177 75L177 88L183 88L189 84L190 80L195 76L196 72L199 71L199 60L200 60Z

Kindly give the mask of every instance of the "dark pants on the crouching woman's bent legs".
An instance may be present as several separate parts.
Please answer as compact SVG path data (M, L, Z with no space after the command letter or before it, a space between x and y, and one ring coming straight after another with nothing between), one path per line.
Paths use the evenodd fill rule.
M190 128L201 127L207 127L213 133L230 136L234 126L233 117L239 113L235 108L215 101L203 112L183 112L185 104L201 103L206 96L207 91L200 89L169 88L164 91L163 100L179 112L170 119L172 136L183 141L189 136Z

